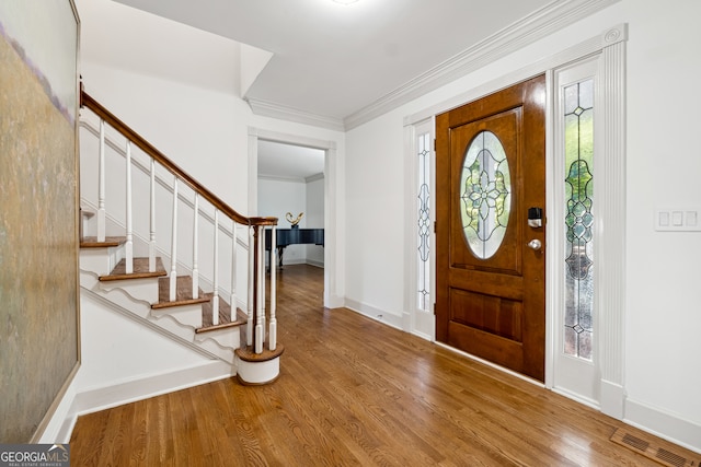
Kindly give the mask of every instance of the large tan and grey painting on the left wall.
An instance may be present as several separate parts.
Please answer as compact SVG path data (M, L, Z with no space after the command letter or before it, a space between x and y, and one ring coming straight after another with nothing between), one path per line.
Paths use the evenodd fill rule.
M79 26L0 2L0 443L37 441L80 363Z

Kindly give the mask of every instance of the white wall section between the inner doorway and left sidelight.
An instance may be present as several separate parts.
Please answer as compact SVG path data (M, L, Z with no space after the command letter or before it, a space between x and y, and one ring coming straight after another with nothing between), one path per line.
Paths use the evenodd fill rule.
M350 131L346 145L346 305L401 327L404 306L403 115Z

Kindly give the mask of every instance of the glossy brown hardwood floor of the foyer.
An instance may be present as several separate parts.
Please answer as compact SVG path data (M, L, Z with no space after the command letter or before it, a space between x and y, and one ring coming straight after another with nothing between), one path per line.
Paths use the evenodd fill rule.
M235 378L78 419L72 466L659 466L622 422L352 311L323 270L278 279L280 377ZM682 455L693 453L654 439Z

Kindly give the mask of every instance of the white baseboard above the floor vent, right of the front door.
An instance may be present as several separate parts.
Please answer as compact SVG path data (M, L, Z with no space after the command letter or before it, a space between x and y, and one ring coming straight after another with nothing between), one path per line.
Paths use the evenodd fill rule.
M701 454L701 424L634 399L625 400L623 421Z

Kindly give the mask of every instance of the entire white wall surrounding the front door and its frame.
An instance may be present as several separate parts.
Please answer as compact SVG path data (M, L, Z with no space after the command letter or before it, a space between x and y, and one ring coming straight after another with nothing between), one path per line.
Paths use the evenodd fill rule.
M693 91L701 72L698 17L696 0L624 0L349 131L347 303L399 323L406 267L403 215L410 206L401 196L403 118L628 23L628 233L621 243L628 256L625 418L701 450L701 306L694 291L701 233L653 230L658 206L701 208L696 178L701 93Z

